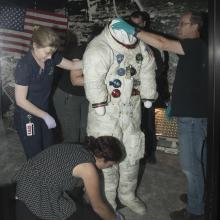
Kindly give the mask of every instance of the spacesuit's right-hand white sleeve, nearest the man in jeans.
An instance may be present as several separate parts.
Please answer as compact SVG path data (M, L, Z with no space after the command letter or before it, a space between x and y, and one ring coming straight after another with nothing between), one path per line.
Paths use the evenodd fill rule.
M155 101L158 97L156 85L156 62L153 52L147 45L142 45L143 61L140 70L140 94L144 101Z

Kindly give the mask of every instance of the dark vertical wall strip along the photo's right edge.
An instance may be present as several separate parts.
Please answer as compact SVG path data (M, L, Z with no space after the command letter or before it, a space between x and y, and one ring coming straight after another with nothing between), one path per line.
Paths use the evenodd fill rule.
M208 177L206 214L208 220L218 220L219 160L220 160L220 2L209 2L209 124Z

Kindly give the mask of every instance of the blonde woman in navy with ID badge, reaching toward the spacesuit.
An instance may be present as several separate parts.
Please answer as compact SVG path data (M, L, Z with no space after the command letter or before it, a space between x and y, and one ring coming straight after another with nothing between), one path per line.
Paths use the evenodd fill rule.
M15 69L15 127L27 159L53 144L55 119L49 113L49 96L54 68L81 69L81 62L72 62L57 52L58 35L50 28L33 31L32 49L19 60Z

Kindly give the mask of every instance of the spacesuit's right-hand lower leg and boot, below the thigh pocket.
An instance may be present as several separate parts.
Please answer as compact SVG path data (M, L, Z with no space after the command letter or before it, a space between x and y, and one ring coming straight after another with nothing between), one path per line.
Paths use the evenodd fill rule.
M128 161L120 164L120 182L118 188L118 198L120 202L139 215L147 212L147 207L136 195L137 175L139 163L131 165Z

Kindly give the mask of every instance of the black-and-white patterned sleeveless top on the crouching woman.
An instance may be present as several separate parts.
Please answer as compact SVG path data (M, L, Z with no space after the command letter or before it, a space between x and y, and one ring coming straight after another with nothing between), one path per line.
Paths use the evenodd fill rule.
M14 177L16 196L41 219L64 220L76 210L66 191L82 185L72 170L82 163L95 163L82 145L58 144L28 160Z

